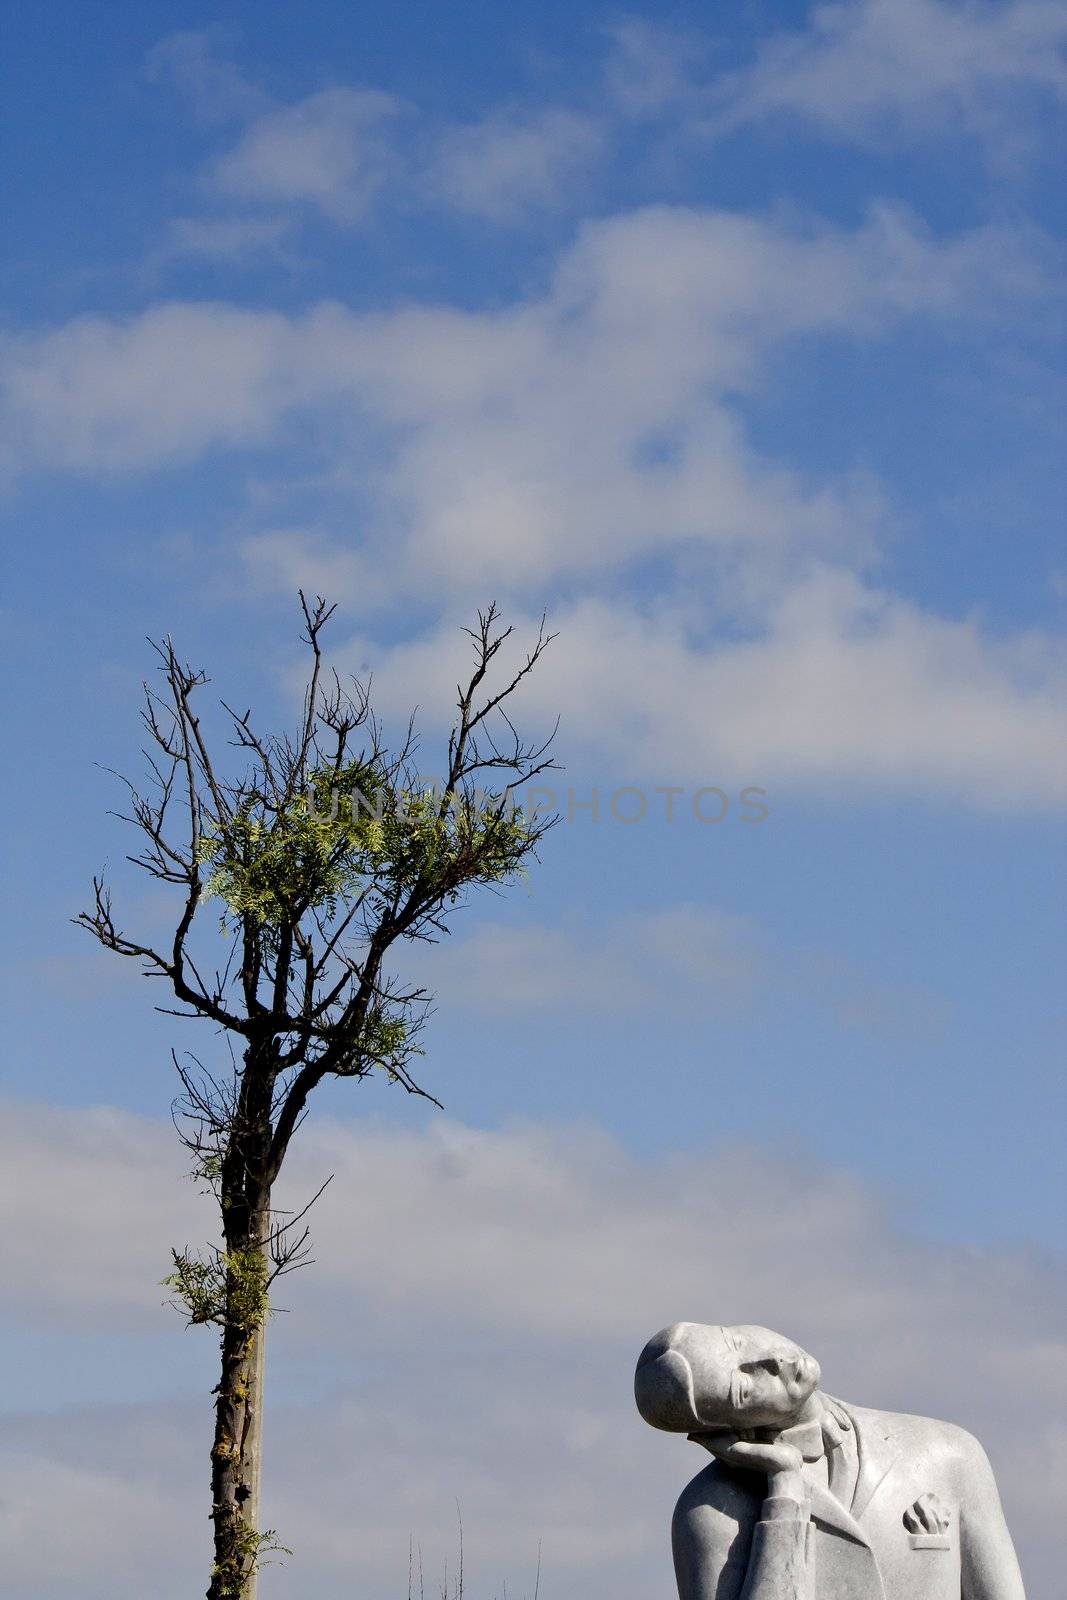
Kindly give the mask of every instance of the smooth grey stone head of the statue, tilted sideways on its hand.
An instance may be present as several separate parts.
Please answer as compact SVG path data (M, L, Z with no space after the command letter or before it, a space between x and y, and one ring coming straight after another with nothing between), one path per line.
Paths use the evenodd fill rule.
M819 1387L819 1363L792 1339L749 1323L675 1322L637 1363L637 1410L672 1434L787 1427Z

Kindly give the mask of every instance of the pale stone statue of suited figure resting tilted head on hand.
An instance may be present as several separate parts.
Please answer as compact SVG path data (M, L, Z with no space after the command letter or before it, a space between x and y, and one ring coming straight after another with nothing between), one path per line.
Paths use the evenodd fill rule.
M645 1421L715 1456L673 1515L681 1600L1024 1600L977 1440L819 1379L769 1328L677 1322L641 1350Z

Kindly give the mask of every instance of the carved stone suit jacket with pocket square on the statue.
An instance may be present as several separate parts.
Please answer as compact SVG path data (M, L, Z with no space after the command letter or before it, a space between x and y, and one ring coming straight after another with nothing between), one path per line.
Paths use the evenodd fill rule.
M1025 1600L979 1442L925 1416L843 1410L859 1451L848 1507L817 1485L809 1507L766 1499L761 1474L718 1461L693 1478L672 1530L680 1600ZM945 1526L913 1531L905 1514L929 1494Z

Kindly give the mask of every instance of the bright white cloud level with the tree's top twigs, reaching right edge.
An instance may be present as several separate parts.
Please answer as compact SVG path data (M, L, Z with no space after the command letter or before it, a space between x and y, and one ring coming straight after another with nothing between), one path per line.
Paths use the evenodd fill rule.
M560 637L525 690L523 715L563 712L560 752L605 782L758 784L824 798L928 795L989 810L1046 810L1067 795L1067 662L1041 635L997 637L853 573L814 570L741 638L707 640L693 606L558 608ZM531 632L518 626L518 637ZM392 715L450 712L462 638L360 637ZM427 702L427 685L438 686ZM619 778L617 774L624 774Z

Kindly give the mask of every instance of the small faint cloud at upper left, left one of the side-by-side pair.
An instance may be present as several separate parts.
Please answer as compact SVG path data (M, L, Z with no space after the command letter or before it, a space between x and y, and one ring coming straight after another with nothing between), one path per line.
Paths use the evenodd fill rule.
M206 182L235 200L304 203L354 222L389 176L398 109L379 90L320 90L256 117Z

